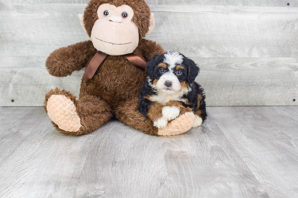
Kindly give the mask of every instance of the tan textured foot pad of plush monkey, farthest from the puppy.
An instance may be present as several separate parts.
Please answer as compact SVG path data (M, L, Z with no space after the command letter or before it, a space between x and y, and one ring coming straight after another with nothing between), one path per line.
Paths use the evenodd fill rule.
M77 132L81 128L74 102L63 95L52 95L47 101L48 116L64 131Z

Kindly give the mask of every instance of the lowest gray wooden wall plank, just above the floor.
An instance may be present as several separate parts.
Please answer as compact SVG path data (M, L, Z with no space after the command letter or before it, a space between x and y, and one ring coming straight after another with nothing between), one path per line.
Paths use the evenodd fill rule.
M0 57L2 64L12 65L0 68L2 106L42 106L45 93L55 87L79 94L83 70L57 78L47 73L45 56ZM298 105L293 102L298 98L297 58L190 58L200 65L196 81L206 91L208 106Z

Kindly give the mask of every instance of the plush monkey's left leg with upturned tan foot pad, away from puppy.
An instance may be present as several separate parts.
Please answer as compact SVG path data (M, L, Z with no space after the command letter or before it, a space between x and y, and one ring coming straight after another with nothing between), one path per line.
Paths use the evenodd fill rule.
M70 92L56 88L46 94L43 108L56 130L67 135L91 133L112 118L108 104L96 96L75 99Z

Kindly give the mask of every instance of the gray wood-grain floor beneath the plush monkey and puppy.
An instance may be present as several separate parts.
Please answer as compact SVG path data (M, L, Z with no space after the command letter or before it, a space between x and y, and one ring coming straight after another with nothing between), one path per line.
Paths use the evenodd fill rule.
M112 120L75 137L41 107L0 107L0 197L297 197L297 106L207 111L179 136Z

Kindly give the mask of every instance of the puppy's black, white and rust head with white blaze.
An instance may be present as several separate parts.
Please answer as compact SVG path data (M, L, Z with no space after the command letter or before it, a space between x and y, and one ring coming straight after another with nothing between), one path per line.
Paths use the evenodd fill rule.
M196 63L175 51L155 54L147 63L149 85L166 94L187 93L198 74Z

